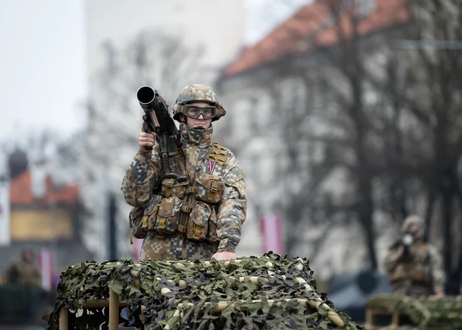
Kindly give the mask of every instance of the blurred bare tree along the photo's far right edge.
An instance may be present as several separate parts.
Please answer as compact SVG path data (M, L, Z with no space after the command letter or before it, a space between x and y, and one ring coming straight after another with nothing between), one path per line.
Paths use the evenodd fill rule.
M462 9L458 1L413 2L413 41L407 46L408 71L405 106L423 132L414 172L428 191L427 224L442 226L444 266L449 291L458 292L462 278L462 53L451 47L462 40ZM439 214L433 208L439 205ZM430 219L440 221L433 224Z

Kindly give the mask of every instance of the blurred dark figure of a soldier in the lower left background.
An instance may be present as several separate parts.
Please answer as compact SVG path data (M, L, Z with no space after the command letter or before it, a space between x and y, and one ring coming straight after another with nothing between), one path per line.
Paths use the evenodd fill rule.
M41 287L40 270L34 263L34 252L24 250L6 270L7 281L22 287Z

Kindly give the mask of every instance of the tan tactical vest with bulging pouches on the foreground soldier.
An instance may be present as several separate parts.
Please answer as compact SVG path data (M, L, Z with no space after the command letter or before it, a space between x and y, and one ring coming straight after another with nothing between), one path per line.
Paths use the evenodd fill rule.
M130 212L130 243L132 236L144 238L149 231L155 237L186 235L195 241L218 242L217 214L225 190L223 168L228 149L212 142L203 163L197 165L195 180L176 182L164 179L160 192L154 194L145 208L133 207ZM171 172L188 176L182 149L169 157ZM204 172L204 167L206 171Z

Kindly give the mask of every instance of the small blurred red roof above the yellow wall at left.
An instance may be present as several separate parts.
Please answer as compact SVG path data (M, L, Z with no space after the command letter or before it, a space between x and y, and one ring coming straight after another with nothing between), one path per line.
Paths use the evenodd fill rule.
M20 174L10 184L10 205L51 205L52 203L75 205L78 203L78 186L67 185L57 188L50 175L45 179L45 196L36 199L32 195L31 174Z

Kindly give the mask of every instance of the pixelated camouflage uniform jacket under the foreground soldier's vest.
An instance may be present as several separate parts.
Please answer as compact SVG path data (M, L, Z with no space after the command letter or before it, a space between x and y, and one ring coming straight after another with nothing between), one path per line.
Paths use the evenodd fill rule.
M168 198L171 196L177 198L178 205L175 207L170 205L172 210L177 210L181 204L180 206L190 207L192 213L195 212L196 219L201 217L197 216L198 212L203 213L202 217L216 214L216 221L211 220L208 222L209 228L207 231L205 228L202 228L201 231L196 231L195 236L193 236L193 233L190 235L191 237L200 238L203 238L205 235L209 242L216 237L219 240L219 245L218 250L215 250L215 252L234 252L241 238L241 224L243 224L246 219L247 196L244 172L239 168L235 156L228 149L225 149L225 162L216 161L213 172L209 173L208 156L212 149L212 127L207 130L194 130L188 128L186 124L181 123L180 130L183 135L183 146L181 152L177 153L173 158L170 158L171 169L174 169L175 172L181 175L187 176L189 178L188 182L195 182L196 179L202 182L202 185L195 184L196 188L199 186L211 186L210 178L218 177L219 189L217 190L217 194L213 195L214 200L210 201L204 197L203 201L211 205L211 212L205 212L204 208L202 208L202 211L197 210L197 203L199 203L197 194L206 195L206 193L201 190L202 188L197 188L196 193L186 194L187 185L178 184L176 186L167 187L165 185L167 180L164 180L162 191L163 193L168 193ZM223 151L223 147L221 148ZM162 174L158 148L153 149L151 162L149 162L149 157L150 156L137 153L123 179L121 189L124 193L125 200L132 206L141 207L141 205L148 205L148 202L153 198L153 184L159 175ZM211 161L214 162L215 159L212 158ZM217 195L219 200L216 200ZM162 202L160 203L162 204ZM155 213L156 210L158 209L150 207L150 212L152 212L152 214L147 222L150 224L150 228L154 226L157 233L160 233L159 225L168 230L162 233L171 233L172 228L176 228L179 225L179 214L184 214L183 212L167 214L167 212L165 213L167 214L166 216L159 217L159 215ZM163 224L161 223L162 221L164 221ZM188 226L190 226L191 221L193 221L193 219L189 216ZM152 225L153 223L155 223L155 225ZM216 234L211 233L211 228L214 227L216 228ZM207 235L205 234L206 232ZM151 235L151 237L153 236ZM183 235L180 235L179 238L183 239ZM167 241L170 242L170 240L172 240L171 237L163 239L165 240L165 242L162 243L164 245L167 245ZM152 239L146 236L145 240L151 241ZM156 237L156 244L160 244L160 240L162 240L162 237ZM187 242L190 242L190 240L187 240ZM151 245L149 244L144 245L144 247L150 247ZM194 246L197 247L197 245ZM211 244L211 246L216 247L215 244ZM204 248L204 253L207 251L208 250ZM143 253L144 252L141 252L142 255ZM167 257L167 253L166 250L161 254ZM178 254L175 254L172 250L170 250L169 253L170 259L176 259L178 256Z

